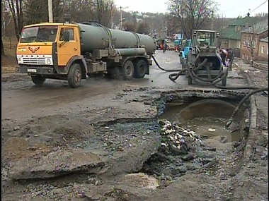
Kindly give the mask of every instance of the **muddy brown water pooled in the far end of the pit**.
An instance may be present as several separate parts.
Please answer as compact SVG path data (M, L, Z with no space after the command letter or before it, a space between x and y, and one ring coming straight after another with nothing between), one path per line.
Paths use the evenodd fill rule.
M225 136L228 142L234 142L239 141L244 134L237 131L231 133L225 126L237 104L239 102L231 99L189 97L168 102L159 118L177 123L178 126L190 128L199 133L202 138ZM245 109L241 108L235 121L243 118Z

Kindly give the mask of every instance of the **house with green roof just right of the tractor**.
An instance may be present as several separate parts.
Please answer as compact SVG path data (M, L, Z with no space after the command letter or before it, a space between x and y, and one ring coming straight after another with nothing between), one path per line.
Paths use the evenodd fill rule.
M252 23L251 17L236 18L229 25L220 31L222 39L222 47L224 49L239 49L241 46L241 31L250 26Z

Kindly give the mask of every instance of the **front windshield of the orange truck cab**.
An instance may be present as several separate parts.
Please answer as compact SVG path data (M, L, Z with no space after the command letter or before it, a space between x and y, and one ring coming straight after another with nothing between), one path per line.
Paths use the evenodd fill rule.
M33 28L24 28L23 32L21 33L20 42L55 42L57 30L57 26L38 26Z

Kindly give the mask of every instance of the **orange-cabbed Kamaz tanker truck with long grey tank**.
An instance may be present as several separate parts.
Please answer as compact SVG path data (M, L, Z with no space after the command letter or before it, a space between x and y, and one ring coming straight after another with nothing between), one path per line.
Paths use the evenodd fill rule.
M40 23L23 28L16 71L28 73L35 85L52 78L68 80L72 88L86 75L144 78L155 50L153 37L98 23Z

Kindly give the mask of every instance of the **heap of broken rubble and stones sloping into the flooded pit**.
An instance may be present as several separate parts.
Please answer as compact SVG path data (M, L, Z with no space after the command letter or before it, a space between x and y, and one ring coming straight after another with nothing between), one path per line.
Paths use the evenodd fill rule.
M142 171L158 178L161 187L189 171L218 164L216 148L207 147L192 126L178 126L170 121L159 121L159 125L161 147L144 163Z

